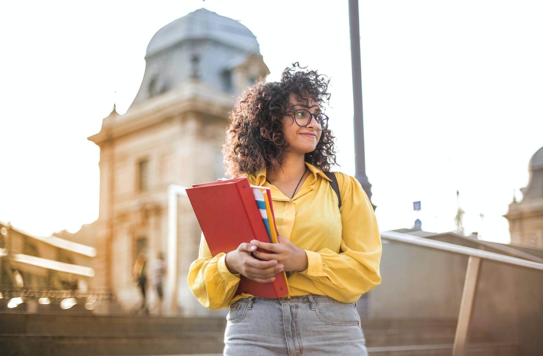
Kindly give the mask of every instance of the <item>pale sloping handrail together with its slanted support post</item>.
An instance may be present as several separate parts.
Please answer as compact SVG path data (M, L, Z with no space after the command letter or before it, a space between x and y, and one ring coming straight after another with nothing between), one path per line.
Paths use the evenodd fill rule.
M516 257L509 257L494 252L482 251L476 248L458 246L454 245L453 243L421 238L419 236L402 234L394 231L386 231L381 232L381 238L384 240L408 243L410 245L439 249L441 251L469 256L468 270L466 271L462 301L460 302L460 311L458 313L456 334L454 335L454 344L452 349L453 356L466 355L466 339L470 326L471 312L473 310L473 299L477 289L479 270L481 269L481 260L493 260L504 264L543 271L543 263L528 261Z

